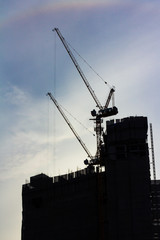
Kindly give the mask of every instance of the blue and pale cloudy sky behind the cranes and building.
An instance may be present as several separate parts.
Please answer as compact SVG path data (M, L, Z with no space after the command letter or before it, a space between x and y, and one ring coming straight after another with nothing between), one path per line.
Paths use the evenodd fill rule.
M42 172L55 176L83 168L87 157L47 92L74 116L68 115L72 125L92 155L96 152L89 120L95 102L52 31L55 27L96 71L72 50L102 105L115 86L116 118L148 117L160 178L160 2L0 4L0 238L20 240L22 184Z

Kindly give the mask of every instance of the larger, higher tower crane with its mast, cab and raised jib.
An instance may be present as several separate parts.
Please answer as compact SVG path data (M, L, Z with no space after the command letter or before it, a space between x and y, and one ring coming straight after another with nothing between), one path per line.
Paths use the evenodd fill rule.
M109 96L107 98L107 101L106 101L106 104L104 105L104 107L101 105L100 101L98 100L95 92L93 91L91 85L89 84L86 76L84 75L81 67L79 66L76 58L74 57L72 51L70 50L66 40L64 39L64 37L62 36L61 32L59 31L58 28L54 28L53 31L55 31L57 33L57 35L59 36L60 40L62 41L66 51L68 52L73 64L75 65L77 71L79 72L82 80L84 81L86 87L88 88L91 96L93 97L95 103L96 103L96 106L99 108L99 111L98 113L96 112L96 110L94 109L93 111L91 111L91 115L93 117L95 117L95 119L91 119L91 120L95 120L95 123L96 123L96 135L97 135L97 153L96 153L96 157L97 157L97 162L95 162L95 164L101 164L101 156L100 156L100 151L101 151L101 143L102 143L102 140L101 140L101 135L102 135L102 127L101 127L101 123L102 123L102 118L104 117L109 117L109 116L112 116L112 115L116 115L118 113L118 109L113 106L111 108L108 108L108 105L110 103L110 100L113 96L113 93L115 92L115 89L112 87L110 89L110 92L109 92ZM86 164L88 164L87 162L85 162Z

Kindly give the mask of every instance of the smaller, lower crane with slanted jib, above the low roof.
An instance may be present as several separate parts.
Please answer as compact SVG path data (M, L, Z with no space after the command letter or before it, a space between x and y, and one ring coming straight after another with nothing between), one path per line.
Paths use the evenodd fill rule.
M48 92L47 96L50 97L50 99L53 101L53 103L56 105L57 109L59 110L59 112L61 113L62 117L64 118L64 120L66 121L66 123L68 124L68 126L70 127L71 131L73 132L73 134L75 135L75 137L77 138L77 140L79 141L79 143L81 144L81 146L83 147L83 149L85 150L85 152L87 153L88 157L90 158L90 162L91 164L93 164L96 159L95 157L93 157L91 155L91 153L89 152L88 148L86 147L85 143L82 141L82 139L80 138L80 136L78 135L78 133L76 132L76 130L74 129L74 127L72 126L72 124L70 123L69 119L67 118L67 116L65 115L64 111L62 110L62 108L60 107L59 103L57 102L57 100L54 98L54 96ZM88 161L87 159L85 161Z

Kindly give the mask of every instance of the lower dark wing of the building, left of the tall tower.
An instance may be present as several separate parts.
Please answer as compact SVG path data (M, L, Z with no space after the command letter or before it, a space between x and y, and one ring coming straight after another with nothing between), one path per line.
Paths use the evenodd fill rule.
M103 173L102 173L103 174ZM98 239L97 174L87 170L23 186L22 240Z

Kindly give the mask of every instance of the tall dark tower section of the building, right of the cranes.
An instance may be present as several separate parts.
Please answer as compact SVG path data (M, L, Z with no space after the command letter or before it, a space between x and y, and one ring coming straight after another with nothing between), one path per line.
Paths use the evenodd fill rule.
M108 239L152 239L147 118L108 122Z

